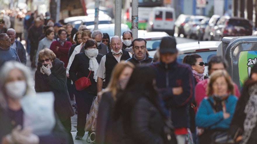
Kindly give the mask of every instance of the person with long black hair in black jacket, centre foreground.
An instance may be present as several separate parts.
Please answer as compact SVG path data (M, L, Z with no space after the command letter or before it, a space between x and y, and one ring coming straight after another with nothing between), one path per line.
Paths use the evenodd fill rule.
M134 69L129 82L114 106L114 120L121 117L126 144L164 144L164 120L167 115L155 90L152 67ZM176 143L172 135L171 143Z

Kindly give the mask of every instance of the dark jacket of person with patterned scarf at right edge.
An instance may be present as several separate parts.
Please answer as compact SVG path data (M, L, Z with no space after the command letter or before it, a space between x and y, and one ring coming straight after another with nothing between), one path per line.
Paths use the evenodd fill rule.
M239 97L237 101L234 116L230 123L230 134L232 135L232 138L235 136L237 131L239 132L237 136L241 136L244 132L244 120L246 119L246 113L244 113L244 110L250 98L248 90L251 86L255 86L257 88L257 86L254 84L257 84L257 83L249 80L246 81L242 89L241 97ZM253 131L251 132L251 136L247 144L256 143L257 142L256 136L257 136L257 127L255 126L255 128L253 128Z

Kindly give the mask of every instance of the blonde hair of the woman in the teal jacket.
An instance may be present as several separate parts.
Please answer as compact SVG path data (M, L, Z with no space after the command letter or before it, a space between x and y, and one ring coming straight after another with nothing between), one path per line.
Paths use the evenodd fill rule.
M233 82L230 79L230 76L226 70L216 70L211 73L211 78L209 79L208 85L207 85L207 90L206 90L206 95L210 96L213 94L213 88L212 85L216 79L219 77L224 77L227 84L228 84L228 90L230 90L230 93L234 95L234 85Z

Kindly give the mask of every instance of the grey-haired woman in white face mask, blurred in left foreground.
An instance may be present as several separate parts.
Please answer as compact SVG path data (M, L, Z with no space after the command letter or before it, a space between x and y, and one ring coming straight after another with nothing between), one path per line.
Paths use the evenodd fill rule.
M37 120L40 127L39 118L37 114L32 114L33 117L27 117L27 109L38 109L32 107L33 105L22 104L26 99L34 99L34 92L29 85L30 73L27 68L17 62L6 62L0 70L0 143L1 144L49 144L49 143L68 143L68 134L63 131L63 126L58 118L56 122L48 121L49 115L41 113L41 118L48 121L50 132L34 127L25 126L28 124L27 120L32 122ZM53 112L52 112L53 113ZM49 113L48 113L49 114ZM32 119L30 119L32 118ZM44 125L44 122L42 123ZM46 132L44 135L37 133L37 131Z

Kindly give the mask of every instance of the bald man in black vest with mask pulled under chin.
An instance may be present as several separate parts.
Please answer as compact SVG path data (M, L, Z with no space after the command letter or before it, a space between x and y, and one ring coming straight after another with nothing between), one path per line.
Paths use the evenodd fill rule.
M96 76L97 79L97 92L102 91L103 80L105 79L105 86L108 86L110 82L112 69L121 60L127 60L131 58L131 54L122 48L123 42L117 35L111 38L110 47L112 48L103 58L99 64ZM100 102L101 96L98 95L98 102Z

